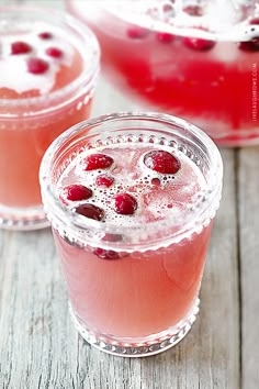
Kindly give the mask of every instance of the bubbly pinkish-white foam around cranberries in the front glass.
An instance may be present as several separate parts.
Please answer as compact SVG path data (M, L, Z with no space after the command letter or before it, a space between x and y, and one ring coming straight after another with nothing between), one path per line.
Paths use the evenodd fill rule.
M176 175L161 175L147 168L144 155L151 149L164 149L173 153L181 162ZM90 154L103 153L114 159L109 169L83 170L82 160ZM108 174L115 178L110 188L98 187L99 175ZM151 184L154 178L160 186ZM196 204L198 199L207 191L205 179L199 167L188 156L168 146L151 144L122 144L102 146L77 156L65 169L57 184L57 196L68 185L80 184L91 188L93 196L87 201L72 202L75 209L80 203L92 203L105 211L104 222L117 226L142 225L156 220L173 220L179 223L183 213ZM114 196L131 193L137 200L137 210L133 215L121 215L114 211Z

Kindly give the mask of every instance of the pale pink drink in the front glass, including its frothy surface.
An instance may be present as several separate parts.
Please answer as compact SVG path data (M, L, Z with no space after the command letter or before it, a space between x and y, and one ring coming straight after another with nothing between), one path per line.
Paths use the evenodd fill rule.
M164 180L164 176L145 169L139 160L154 147L162 148L147 144L102 148L102 153L114 159L110 174L115 178L114 185L104 190L94 185L100 171L81 173L82 156L79 156L60 177L59 188L69 184L87 185L94 196L86 202L103 208L105 223L121 225L122 234L130 224L140 224L145 232L148 222L155 220L168 219L170 223L177 216L179 223L206 184L195 164L180 152L181 169L174 178L169 175ZM151 179L158 177L160 186L153 185ZM113 213L112 196L123 190L138 201L134 215ZM147 242L145 252L134 252L132 247L132 253L119 253L121 258L113 260L98 257L95 247L90 245L79 248L69 244L54 230L69 299L80 323L87 330L121 338L142 338L179 323L199 294L211 226L212 222L167 247L162 238L153 249L148 249ZM114 249L112 243L111 249Z

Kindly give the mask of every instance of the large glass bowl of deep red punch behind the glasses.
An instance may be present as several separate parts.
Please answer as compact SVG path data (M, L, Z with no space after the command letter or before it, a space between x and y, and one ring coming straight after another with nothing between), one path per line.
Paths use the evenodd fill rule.
M95 32L123 92L218 144L259 143L258 0L66 1Z

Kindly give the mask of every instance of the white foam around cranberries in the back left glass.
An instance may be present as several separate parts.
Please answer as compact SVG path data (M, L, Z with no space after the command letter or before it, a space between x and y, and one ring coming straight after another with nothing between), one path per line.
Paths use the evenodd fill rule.
M1 30L0 30L1 32ZM48 32L53 36L49 40L38 37L42 32ZM27 54L11 54L11 44L25 42L32 46ZM54 58L46 54L48 47L56 47L63 52L60 58ZM56 80L56 75L61 66L71 66L75 49L69 37L59 29L47 23L35 22L30 26L19 26L19 32L1 32L0 35L0 88L9 88L18 93L36 89L41 95L49 92ZM26 60L30 57L37 57L48 63L49 67L44 74L32 74L27 71Z

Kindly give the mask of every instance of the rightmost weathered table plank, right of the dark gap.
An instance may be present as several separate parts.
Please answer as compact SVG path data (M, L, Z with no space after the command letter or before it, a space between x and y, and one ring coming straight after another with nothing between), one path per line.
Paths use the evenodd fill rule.
M238 156L243 387L259 387L259 147Z

